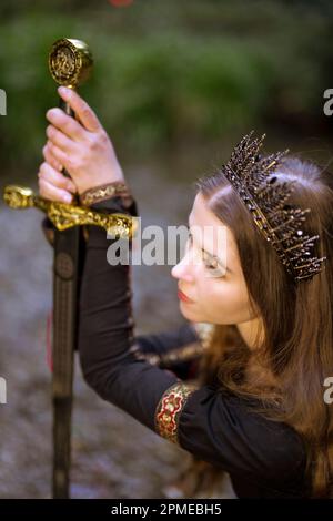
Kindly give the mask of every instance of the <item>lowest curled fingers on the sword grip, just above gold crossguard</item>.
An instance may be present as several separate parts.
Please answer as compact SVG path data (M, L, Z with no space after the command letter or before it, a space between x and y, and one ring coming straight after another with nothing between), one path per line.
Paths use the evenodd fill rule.
M75 192L73 182L60 174L48 163L42 163L38 173L39 191L42 197L51 201L70 203L72 201L71 192Z

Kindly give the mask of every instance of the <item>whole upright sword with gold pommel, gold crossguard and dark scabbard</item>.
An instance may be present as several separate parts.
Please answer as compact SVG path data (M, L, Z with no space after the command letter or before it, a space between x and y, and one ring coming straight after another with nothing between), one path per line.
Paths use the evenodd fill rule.
M88 79L92 57L80 40L60 39L49 55L52 78L62 85L75 89ZM74 116L70 106L60 100L67 114ZM65 176L69 173L62 171ZM71 411L74 350L78 341L78 303L84 237L81 225L98 225L119 237L130 237L137 221L123 214L97 213L79 205L52 202L36 195L30 188L8 185L4 202L12 208L37 207L53 223L53 498L69 498L71 459Z

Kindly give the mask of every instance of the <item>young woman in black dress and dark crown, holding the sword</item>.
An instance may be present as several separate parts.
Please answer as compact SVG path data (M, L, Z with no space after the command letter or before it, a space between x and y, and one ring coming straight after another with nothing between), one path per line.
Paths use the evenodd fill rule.
M63 202L78 192L97 212L138 215L134 200L98 190L124 183L112 144L75 92L60 95L80 123L48 112L40 194ZM185 255L172 269L189 320L179 335L134 336L130 266L110 265L113 239L87 227L81 366L104 400L228 472L236 497L330 498L333 180L294 157L260 156L260 144L246 136L220 172L198 182ZM200 233L221 226L225 251ZM201 323L212 335L196 379L144 356L196 341Z

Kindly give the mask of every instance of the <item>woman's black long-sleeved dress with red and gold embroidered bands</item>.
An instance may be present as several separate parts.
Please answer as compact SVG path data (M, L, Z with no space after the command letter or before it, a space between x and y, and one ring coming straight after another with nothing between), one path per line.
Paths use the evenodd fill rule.
M138 215L135 202L124 210L118 197L92 208ZM101 227L87 231L79 353L89 386L159 436L226 471L238 498L309 497L305 447L294 429L263 418L226 389L199 387L191 380L195 357L171 368L147 357L195 343L198 333L184 324L176 331L135 336L131 266L110 265L113 239Z

